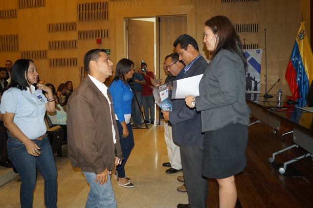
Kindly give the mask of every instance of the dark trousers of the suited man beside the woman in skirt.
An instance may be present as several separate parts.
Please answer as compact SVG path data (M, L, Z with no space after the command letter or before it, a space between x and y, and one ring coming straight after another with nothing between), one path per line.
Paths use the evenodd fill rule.
M206 208L208 182L202 177L203 147L180 145L189 208Z

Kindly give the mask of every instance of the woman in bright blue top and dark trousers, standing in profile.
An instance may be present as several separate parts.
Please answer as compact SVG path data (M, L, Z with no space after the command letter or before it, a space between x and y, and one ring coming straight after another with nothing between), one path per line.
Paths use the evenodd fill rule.
M134 148L134 135L132 125L130 122L132 115L132 100L133 92L127 83L134 74L134 62L129 59L121 59L116 65L116 71L113 81L109 87L109 92L113 100L113 108L120 138L120 144L123 153L122 164L116 167L118 174L117 184L125 187L132 188L134 184L131 183L130 178L125 174L125 163Z

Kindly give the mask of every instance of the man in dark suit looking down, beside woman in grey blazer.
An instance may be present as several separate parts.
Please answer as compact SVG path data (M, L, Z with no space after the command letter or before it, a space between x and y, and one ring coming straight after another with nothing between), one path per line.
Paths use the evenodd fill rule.
M185 64L176 80L203 74L208 63L199 53L194 38L183 34L174 42L179 60ZM173 100L173 111L163 112L172 123L173 140L179 144L181 164L187 188L187 205L177 208L206 208L207 180L202 177L203 134L201 114L186 106L184 99Z

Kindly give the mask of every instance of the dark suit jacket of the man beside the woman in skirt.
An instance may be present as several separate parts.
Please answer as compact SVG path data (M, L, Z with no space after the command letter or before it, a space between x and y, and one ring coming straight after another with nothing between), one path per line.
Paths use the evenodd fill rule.
M203 74L208 63L200 56L181 79ZM182 69L183 71L183 69ZM178 144L188 146L203 146L203 134L201 132L201 114L196 108L190 109L185 104L185 99L175 99L173 111L170 112L173 140Z

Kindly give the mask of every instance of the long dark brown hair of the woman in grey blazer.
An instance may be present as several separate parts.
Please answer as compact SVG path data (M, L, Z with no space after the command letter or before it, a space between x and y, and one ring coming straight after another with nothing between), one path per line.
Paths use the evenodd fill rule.
M206 21L204 25L208 26L212 30L213 34L217 34L219 38L216 48L214 51L212 51L212 59L222 48L231 50L240 56L244 62L246 70L248 67L246 56L241 49L242 43L239 36L237 35L233 23L231 23L230 20L225 16L215 16Z

